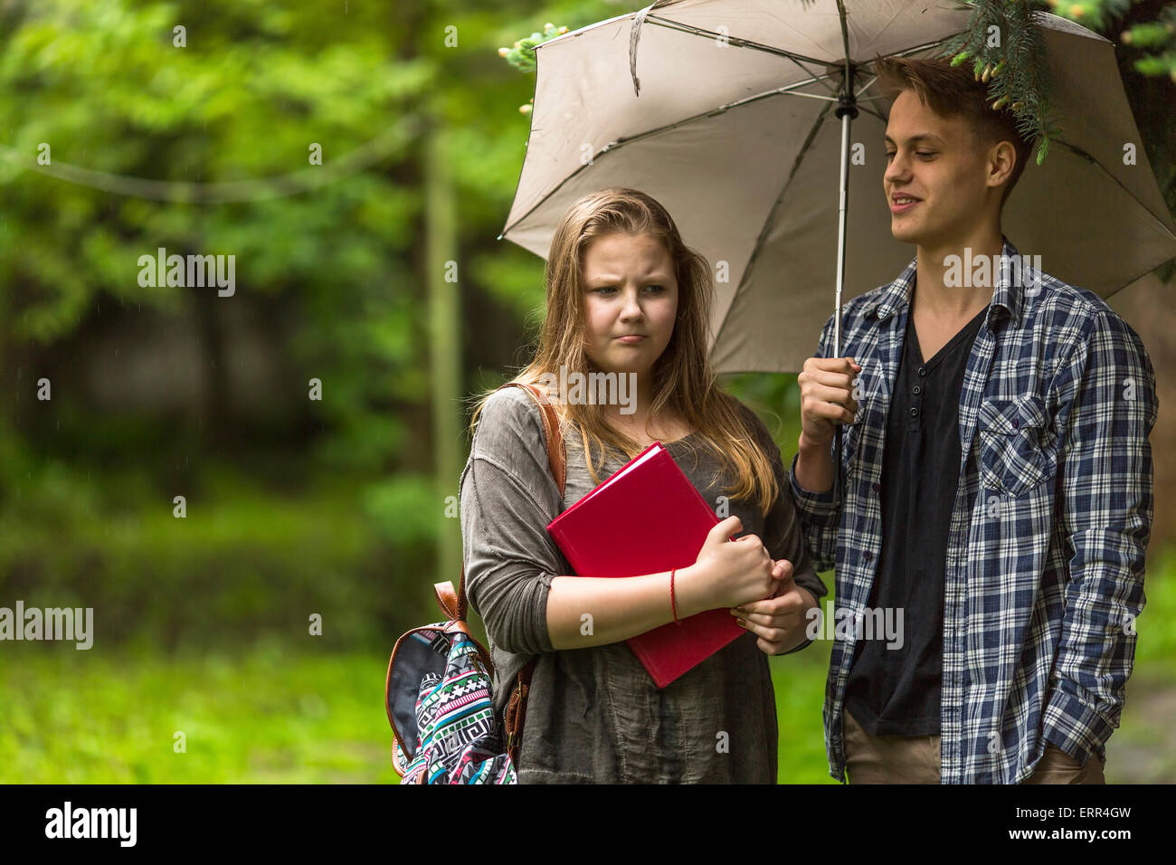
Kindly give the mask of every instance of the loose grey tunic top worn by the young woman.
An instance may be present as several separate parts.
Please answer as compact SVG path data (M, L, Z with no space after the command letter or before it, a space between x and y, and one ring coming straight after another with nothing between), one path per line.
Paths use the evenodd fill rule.
M742 410L771 460L780 494L767 519L744 499L731 499L728 511L774 559L793 563L797 585L821 598L826 587L806 551L780 450L759 417ZM547 525L594 487L579 430L567 426L563 441L568 473L561 500L539 407L522 388L503 388L482 410L460 481L467 594L486 624L500 718L515 674L536 658L520 783L774 784L776 700L755 634L740 636L661 690L623 641L553 648L547 595L554 577L574 571ZM717 477L722 468L714 451L693 433L663 446L717 508L733 477ZM619 457L607 460L597 471L601 481L623 464Z

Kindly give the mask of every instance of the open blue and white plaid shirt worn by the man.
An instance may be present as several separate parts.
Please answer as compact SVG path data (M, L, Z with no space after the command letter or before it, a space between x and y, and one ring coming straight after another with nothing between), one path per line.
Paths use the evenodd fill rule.
M1004 255L1018 261L1007 238ZM915 274L913 260L894 282L844 306L841 357L862 371L840 487L802 490L795 458L789 473L816 567L836 567L838 612L854 616L869 604L883 543L882 447ZM1144 604L1157 408L1148 353L1085 290L1031 268L1002 267L993 279L960 393L962 458L944 561L943 784L1020 783L1047 743L1083 764L1104 753ZM817 355L831 354L830 315ZM823 710L829 772L841 781L857 636L844 631Z

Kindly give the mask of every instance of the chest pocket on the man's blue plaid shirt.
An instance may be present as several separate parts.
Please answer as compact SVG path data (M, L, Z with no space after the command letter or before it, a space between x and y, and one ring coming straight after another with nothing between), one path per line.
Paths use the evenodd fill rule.
M976 421L980 472L987 490L1024 495L1054 475L1045 406L1034 397L985 400Z

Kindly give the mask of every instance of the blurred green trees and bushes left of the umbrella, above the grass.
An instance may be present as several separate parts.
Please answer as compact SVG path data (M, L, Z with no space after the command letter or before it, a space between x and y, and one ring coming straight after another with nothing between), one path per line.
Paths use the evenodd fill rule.
M422 177L434 142L473 299L454 405L521 360L543 299L542 261L495 240L527 138L514 108L533 89L496 54L530 7L495 6L4 5L6 594L101 597L122 605L112 638L191 630L180 641L302 633L294 612L312 601L352 610L340 621L360 640L377 633L372 616L385 638L432 616L433 515L446 505L430 481ZM615 14L588 6L581 24ZM234 255L235 294L140 285L139 258L160 247ZM187 379L162 352L145 357L146 338L194 340L179 354L192 405L153 400L152 386ZM93 365L135 351L129 372ZM239 374L254 355L274 371L265 386ZM51 401L36 399L42 377ZM312 378L321 400L308 399ZM186 520L172 515L178 493ZM275 610L293 625L256 614L283 586ZM241 600L216 603L220 632L182 610L213 595ZM132 599L152 601L142 618Z

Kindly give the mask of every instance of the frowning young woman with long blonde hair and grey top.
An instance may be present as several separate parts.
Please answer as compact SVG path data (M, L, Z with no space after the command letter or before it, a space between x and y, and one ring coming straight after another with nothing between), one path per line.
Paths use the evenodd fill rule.
M767 654L807 645L806 613L826 588L804 550L779 448L710 370L710 298L706 259L682 242L660 204L624 188L586 195L555 231L547 319L535 359L515 380L549 384L561 367L564 380L634 373L635 401L561 402L546 388L567 451L562 499L539 408L522 388L482 397L474 412L461 526L467 593L486 624L500 713L509 683L536 659L520 783L776 780ZM624 640L673 621L670 573L564 575L570 567L546 531L653 441L730 514L696 563L677 570L679 618L728 607L748 631L661 690ZM584 612L590 634L582 633Z

